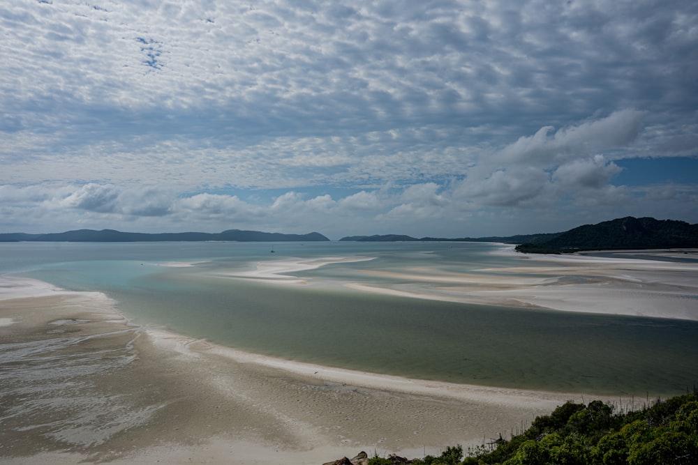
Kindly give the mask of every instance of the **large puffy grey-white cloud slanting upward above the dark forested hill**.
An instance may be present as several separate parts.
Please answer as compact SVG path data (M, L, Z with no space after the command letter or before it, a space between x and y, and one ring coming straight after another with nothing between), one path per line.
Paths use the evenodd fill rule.
M456 187L461 199L487 206L550 204L551 197L602 189L621 169L605 155L637 138L644 112L620 110L560 130L544 126L535 135L493 153L482 153Z

